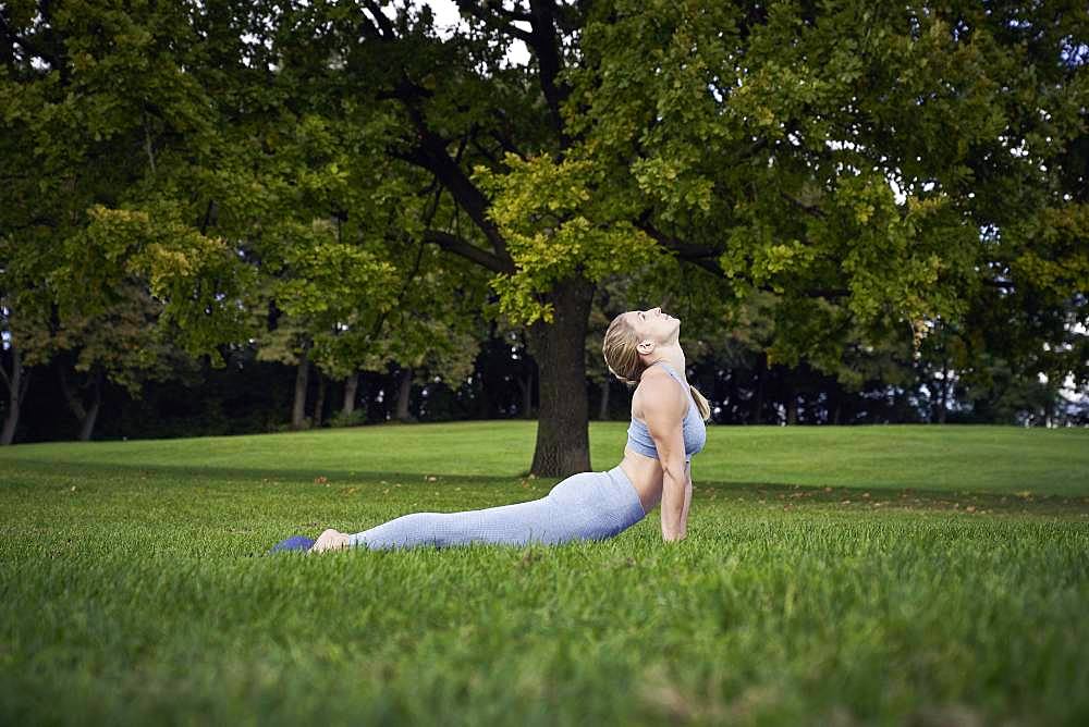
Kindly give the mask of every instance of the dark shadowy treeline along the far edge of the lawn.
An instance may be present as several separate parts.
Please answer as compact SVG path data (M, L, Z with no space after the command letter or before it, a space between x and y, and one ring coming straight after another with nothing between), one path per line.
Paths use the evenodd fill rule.
M146 384L134 397L101 382L94 439L158 439L247 434L291 429L296 370L260 361L253 347L225 352L228 366L204 365L185 378ZM363 371L354 412L344 416L344 382L310 375L307 381L306 426L343 427L391 421L438 422L474 419L536 418L537 366L524 352L512 356L502 338L489 338L467 381L419 381L406 369ZM33 369L45 384L61 381L63 359ZM89 402L94 382L74 371L65 375L76 394ZM920 379L915 385L880 380L849 391L834 377L808 366L767 365L755 355L746 365L719 368L714 360L689 361L689 382L712 406L718 424L867 424L994 423L1018 426L1086 426L1089 404L1067 401L1055 386L1007 375L989 391L963 383L950 386L944 402ZM405 382L408 381L408 385ZM83 385L81 385L83 384ZM322 390L323 389L323 394ZM605 391L608 390L608 391ZM595 420L625 420L631 414L627 389L615 380L588 382ZM320 406L320 414L317 408ZM72 410L60 385L38 385L24 403L16 441L79 439L84 421Z

